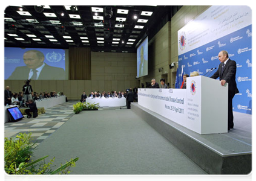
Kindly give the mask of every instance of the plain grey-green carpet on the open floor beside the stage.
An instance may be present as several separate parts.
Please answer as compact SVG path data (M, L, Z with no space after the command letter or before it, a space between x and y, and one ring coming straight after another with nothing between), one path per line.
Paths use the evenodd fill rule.
M214 180L131 110L85 111L45 139L33 159L79 157L68 180Z

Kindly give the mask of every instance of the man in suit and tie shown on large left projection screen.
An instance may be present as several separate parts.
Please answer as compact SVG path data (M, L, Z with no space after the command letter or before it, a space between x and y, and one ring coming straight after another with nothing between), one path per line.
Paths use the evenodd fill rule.
M29 50L24 53L23 60L26 66L19 66L13 71L8 80L64 80L65 71L62 68L44 63L44 54L38 50Z

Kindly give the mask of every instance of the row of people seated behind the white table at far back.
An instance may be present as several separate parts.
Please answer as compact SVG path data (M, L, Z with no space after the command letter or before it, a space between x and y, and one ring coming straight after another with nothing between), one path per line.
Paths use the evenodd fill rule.
M136 94L134 94L134 100L136 101L137 100L137 92ZM83 94L81 95L81 102L85 102L85 100L87 98L126 98L127 96L127 92L126 90L125 91L119 91L118 93L116 91L111 91L111 92L108 92L106 93L105 91L103 91L101 94L100 92L93 92L91 91L91 94L87 97L87 95L85 94L85 91L83 92Z

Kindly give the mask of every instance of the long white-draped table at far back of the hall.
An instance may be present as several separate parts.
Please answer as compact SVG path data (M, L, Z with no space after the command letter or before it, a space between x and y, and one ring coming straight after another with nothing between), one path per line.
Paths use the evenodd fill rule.
M122 107L126 105L126 98L87 98L87 103L99 103L100 107Z

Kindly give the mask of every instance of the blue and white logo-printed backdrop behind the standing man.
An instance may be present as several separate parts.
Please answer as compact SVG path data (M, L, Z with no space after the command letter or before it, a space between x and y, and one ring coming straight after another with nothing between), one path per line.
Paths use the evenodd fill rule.
M233 110L254 115L254 5L212 5L178 31L178 42L179 69L184 74L197 71L211 77L220 64L218 52L228 51L229 59L237 63L239 93Z

